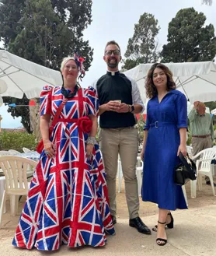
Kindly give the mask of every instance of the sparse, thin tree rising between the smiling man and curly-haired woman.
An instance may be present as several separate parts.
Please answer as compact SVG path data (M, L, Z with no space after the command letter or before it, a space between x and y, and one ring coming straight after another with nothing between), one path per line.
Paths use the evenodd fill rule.
M158 60L158 42L156 36L160 30L158 19L151 13L141 15L134 26L134 36L129 38L124 56L123 68L130 69L140 63L151 63Z

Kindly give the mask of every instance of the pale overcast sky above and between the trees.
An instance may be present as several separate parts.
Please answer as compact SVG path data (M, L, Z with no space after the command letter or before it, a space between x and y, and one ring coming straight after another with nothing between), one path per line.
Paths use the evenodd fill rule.
M160 48L166 44L168 24L179 9L193 7L197 12L204 12L207 17L206 24L212 23L216 30L216 0L211 6L202 5L201 0L92 0L92 2L92 23L84 31L84 40L89 40L89 45L94 48L94 54L92 65L81 83L85 88L106 73L103 52L107 41L116 40L120 44L124 58L128 39L134 34L134 24L138 23L144 12L152 13L155 19L159 20ZM2 128L20 127L20 118L13 119L7 113L7 107L0 107L0 114L3 117Z

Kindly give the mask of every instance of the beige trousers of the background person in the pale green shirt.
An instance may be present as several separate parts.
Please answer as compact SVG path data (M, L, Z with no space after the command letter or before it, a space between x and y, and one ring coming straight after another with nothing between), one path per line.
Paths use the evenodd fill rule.
M192 147L193 147L193 156L197 155L200 151L204 149L208 149L212 147L212 140L211 136L208 136L207 138L197 138L192 137ZM199 157L197 157L196 160L198 160ZM205 181L209 181L209 177L205 177Z

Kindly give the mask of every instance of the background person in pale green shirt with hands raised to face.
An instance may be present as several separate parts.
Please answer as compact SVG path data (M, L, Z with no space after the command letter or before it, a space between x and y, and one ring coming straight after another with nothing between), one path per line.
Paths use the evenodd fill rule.
M206 112L203 102L195 101L193 103L193 109L188 115L188 119L192 134L193 156L196 156L200 151L212 147L214 141L212 117ZM205 181L207 185L211 185L209 177L206 176ZM214 187L216 187L215 183Z

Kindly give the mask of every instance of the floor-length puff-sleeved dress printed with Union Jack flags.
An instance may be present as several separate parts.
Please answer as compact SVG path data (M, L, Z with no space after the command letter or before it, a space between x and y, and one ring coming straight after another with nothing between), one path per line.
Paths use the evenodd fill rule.
M99 103L92 87L82 89L83 111L78 109L78 93L68 99L60 118L78 119L97 115ZM64 100L61 87L45 86L40 96L40 114L54 114ZM115 230L110 215L105 171L99 146L88 160L85 142L75 122L59 121L51 134L56 156L43 150L33 174L30 191L12 244L16 247L54 251L68 247L106 244L106 233Z

